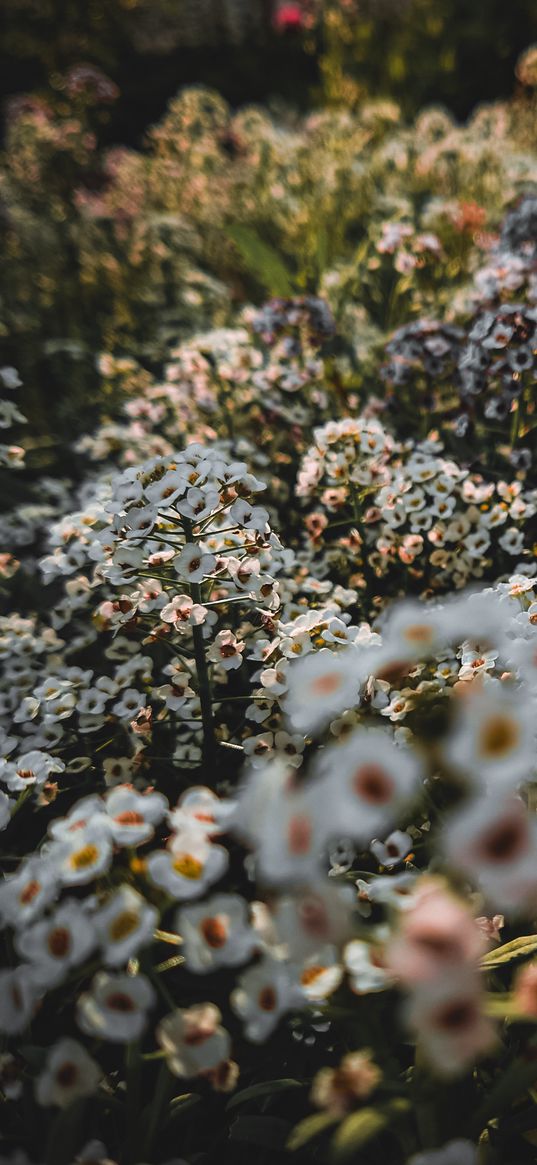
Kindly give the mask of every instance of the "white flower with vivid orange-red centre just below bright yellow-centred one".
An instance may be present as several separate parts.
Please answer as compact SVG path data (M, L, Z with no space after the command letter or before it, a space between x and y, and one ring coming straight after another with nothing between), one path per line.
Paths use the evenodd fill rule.
M198 975L246 962L257 944L247 903L238 894L219 894L202 905L183 906L175 925L183 939L185 967Z

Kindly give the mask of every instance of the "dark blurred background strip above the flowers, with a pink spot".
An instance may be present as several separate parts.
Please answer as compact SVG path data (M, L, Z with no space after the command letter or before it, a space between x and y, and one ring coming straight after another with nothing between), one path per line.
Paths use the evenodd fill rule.
M120 99L105 136L140 142L185 84L232 105L391 97L466 116L507 97L537 36L534 0L3 0L3 94L99 65Z

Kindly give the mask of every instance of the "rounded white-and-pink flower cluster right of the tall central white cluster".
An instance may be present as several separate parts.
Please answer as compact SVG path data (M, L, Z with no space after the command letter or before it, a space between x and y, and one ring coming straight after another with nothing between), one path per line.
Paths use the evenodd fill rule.
M520 481L469 473L438 440L397 444L375 419L328 424L315 438L297 494L320 503L306 518L310 545L344 585L390 578L393 587L401 564L403 589L412 579L422 592L465 586L493 562L530 567L536 497Z

